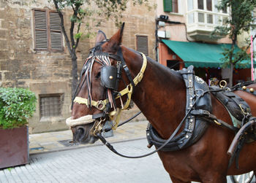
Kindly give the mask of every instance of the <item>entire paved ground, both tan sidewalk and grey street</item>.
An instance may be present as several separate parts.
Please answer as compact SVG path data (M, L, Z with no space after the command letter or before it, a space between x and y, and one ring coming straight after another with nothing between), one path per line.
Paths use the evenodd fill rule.
M146 147L147 125L148 121L128 122L106 139L124 155L144 155L152 151ZM69 141L72 141L70 130L29 135L30 163L0 170L0 183L171 182L157 154L127 159L110 152L101 141L95 144ZM227 182L231 183L230 177Z

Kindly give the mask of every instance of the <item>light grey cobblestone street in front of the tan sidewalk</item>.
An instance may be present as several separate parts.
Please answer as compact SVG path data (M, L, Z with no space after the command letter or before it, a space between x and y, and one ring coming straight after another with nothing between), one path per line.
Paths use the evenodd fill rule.
M151 151L146 145L146 139L113 144L126 155ZM1 182L170 182L157 154L127 159L118 157L105 146L34 154L30 162L0 171Z

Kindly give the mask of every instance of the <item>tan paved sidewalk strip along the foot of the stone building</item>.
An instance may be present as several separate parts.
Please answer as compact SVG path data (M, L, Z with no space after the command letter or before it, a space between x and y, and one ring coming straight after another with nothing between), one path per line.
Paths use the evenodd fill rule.
M113 131L113 136L106 139L110 143L113 143L117 141L146 138L147 125L148 121L128 122L118 127L116 131ZM72 144L69 143L69 141L72 141L71 130L31 134L29 135L29 154L54 152L102 144L101 141L96 141L94 144Z

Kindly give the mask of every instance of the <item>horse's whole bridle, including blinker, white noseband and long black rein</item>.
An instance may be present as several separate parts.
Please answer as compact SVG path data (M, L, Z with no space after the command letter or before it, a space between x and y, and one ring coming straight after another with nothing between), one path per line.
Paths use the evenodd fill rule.
M140 157L146 157L148 155L152 155L155 152L159 152L159 150L161 150L163 147L165 147L165 145L169 141L171 141L174 136L176 136L178 131L181 129L181 126L184 124L184 121L187 119L188 114L191 112L192 107L189 109L187 114L184 116L183 120L181 120L181 122L178 125L178 127L176 128L176 130L171 134L169 139L167 139L165 141L165 143L162 144L161 147L155 149L152 152L149 152L146 155L132 157L132 156L120 154L102 136L102 134L101 134L102 128L103 128L102 123L105 122L106 117L109 117L110 120L113 120L113 118L115 117L116 124L113 125L113 129L116 129L116 127L118 126L118 118L120 117L121 111L124 109L127 109L129 107L129 103L130 103L131 97L132 97L132 91L133 91L134 87L136 85L138 85L138 83L141 81L141 79L143 79L143 74L144 74L144 71L146 70L147 59L143 53L140 53L143 57L143 66L141 67L138 75L134 79L132 79L129 69L127 67L127 64L125 63L123 55L121 53L121 47L119 48L117 55L113 55L108 52L100 52L100 51L96 51L96 50L101 50L101 47L100 46L95 47L90 52L89 57L86 59L86 62L83 66L83 70L81 71L81 74L80 74L80 84L81 85L80 85L80 87L78 85L79 88L77 88L77 90L75 92L75 98L72 101L72 103L75 102L78 104L86 104L87 107L94 106L97 109L99 109L100 111L102 111L102 113L94 114L94 115L86 115L86 116L80 117L75 120L72 120L71 117L69 117L66 121L67 125L69 125L69 127L75 127L76 125L86 125L91 122L94 122L94 125L90 131L91 135L97 136L102 141L102 143L105 144L112 152L116 153L116 155L119 155L121 157L140 158ZM116 66L111 66L110 58L113 58L114 60L117 61ZM91 82L90 82L91 81L91 74L90 74L91 70L90 70L90 68L92 68L92 65L95 62L102 64L101 84L102 84L102 86L104 86L107 89L107 94L106 94L107 98L103 101L94 101L90 95L90 88L89 88L91 85ZM116 90L118 88L118 82L121 79L121 69L124 69L130 83L129 83L129 85L127 85L127 87L124 88L124 90L117 92ZM86 71L89 73L86 73ZM83 74L87 74L87 77L85 77L85 79L81 80ZM113 81L112 81L112 79L113 79ZM88 98L78 97L77 94L78 94L80 88L83 86L84 82L86 82L86 80L87 80L87 86L89 88L88 89L89 97ZM195 100L195 103L192 104L192 106L194 106L197 103L197 101L200 99L200 97L202 97L205 93L208 93L208 92L209 92L209 90L201 93L200 96L198 96L198 98ZM109 96L110 93L111 93L112 99L114 98L113 101L111 101L111 97ZM120 100L121 100L121 97L124 95L127 95L127 101L126 101L125 105L122 105L121 109L116 109L116 106L115 106L116 104L114 101L118 98L120 98ZM110 109L113 109L113 108L114 108L114 110L110 112Z

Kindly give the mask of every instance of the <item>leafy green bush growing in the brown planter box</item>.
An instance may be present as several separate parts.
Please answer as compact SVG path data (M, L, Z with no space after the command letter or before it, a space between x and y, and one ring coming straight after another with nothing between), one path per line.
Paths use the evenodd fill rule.
M0 87L0 128L17 128L27 124L36 109L37 98L30 90Z

